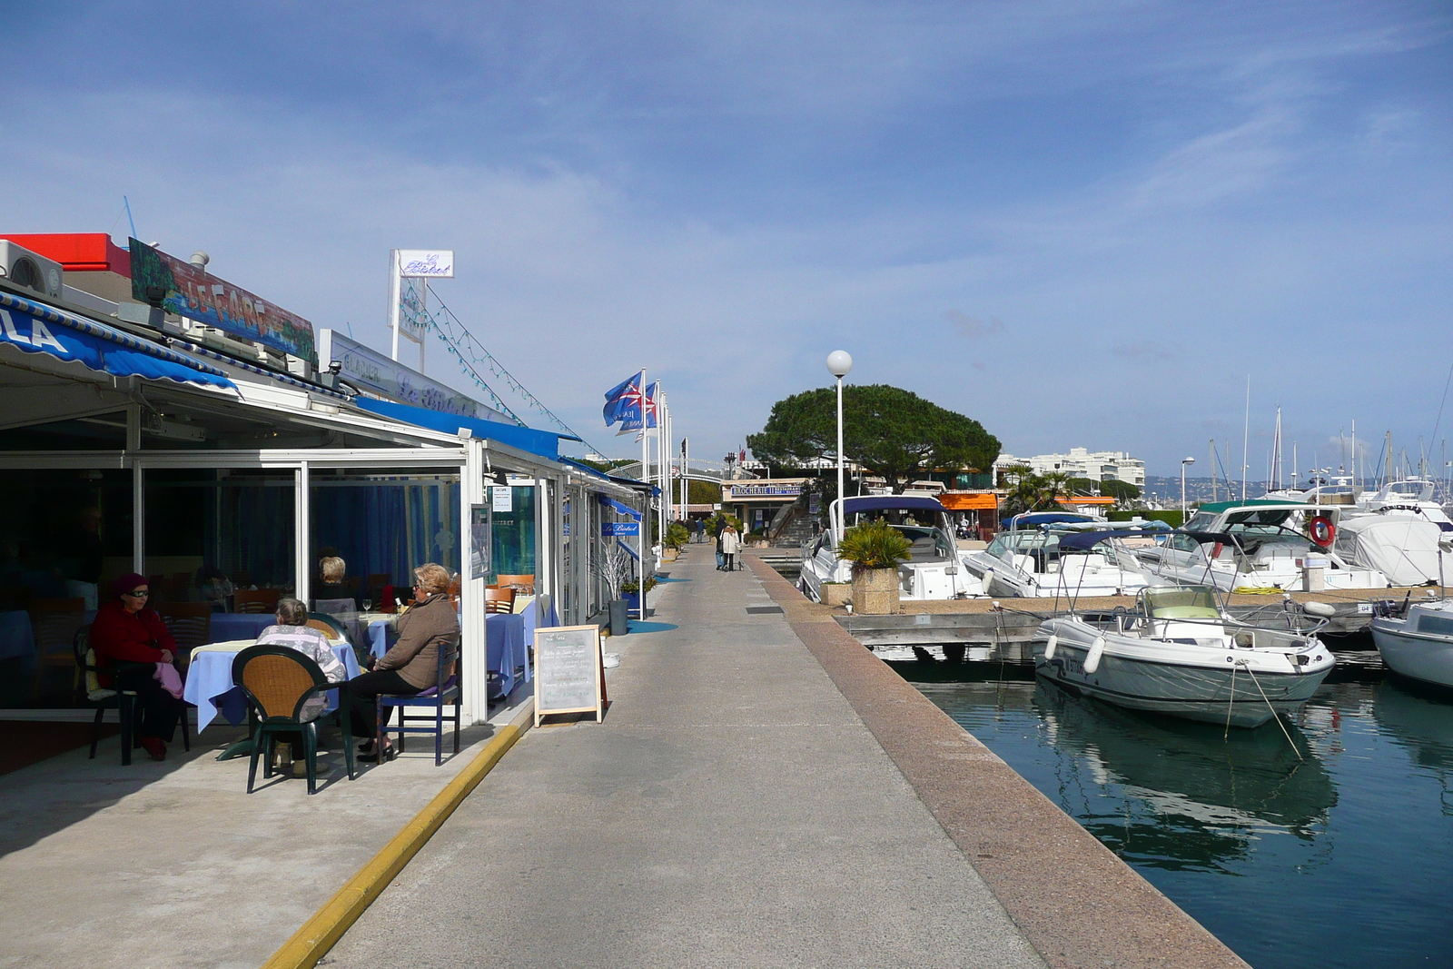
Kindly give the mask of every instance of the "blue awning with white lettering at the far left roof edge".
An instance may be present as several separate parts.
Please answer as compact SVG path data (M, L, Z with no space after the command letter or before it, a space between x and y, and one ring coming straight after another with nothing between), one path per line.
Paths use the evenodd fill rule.
M115 376L237 389L227 373L160 343L0 292L0 343Z

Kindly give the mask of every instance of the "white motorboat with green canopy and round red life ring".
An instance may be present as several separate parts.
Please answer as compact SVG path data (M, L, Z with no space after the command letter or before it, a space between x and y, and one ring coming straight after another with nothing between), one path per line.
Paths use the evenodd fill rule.
M1209 503L1183 529L1135 555L1161 581L1212 584L1228 593L1302 588L1311 571L1321 572L1322 588L1386 588L1380 569L1332 551L1340 516L1338 506L1305 501Z

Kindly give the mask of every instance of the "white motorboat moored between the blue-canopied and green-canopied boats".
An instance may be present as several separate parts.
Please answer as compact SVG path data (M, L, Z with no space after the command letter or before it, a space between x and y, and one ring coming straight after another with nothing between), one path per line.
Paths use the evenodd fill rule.
M987 548L963 552L963 567L989 596L1078 599L1128 596L1149 583L1125 539L1139 527L1106 530L1104 523L1053 523L1000 532Z

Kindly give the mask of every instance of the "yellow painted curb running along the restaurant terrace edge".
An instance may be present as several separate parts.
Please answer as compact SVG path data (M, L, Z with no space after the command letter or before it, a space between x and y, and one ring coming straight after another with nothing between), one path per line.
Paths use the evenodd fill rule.
M434 831L453 814L455 808L488 774L504 753L514 747L535 718L535 700L520 708L519 715L484 745L474 761L440 790L414 819L404 825L384 848L357 870L337 893L312 914L292 938L282 944L262 969L312 969L328 954L343 933L357 921L408 860L424 847Z

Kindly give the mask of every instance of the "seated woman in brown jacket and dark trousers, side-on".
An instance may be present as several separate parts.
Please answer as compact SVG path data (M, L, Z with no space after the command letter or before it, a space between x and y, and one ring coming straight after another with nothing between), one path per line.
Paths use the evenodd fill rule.
M353 677L353 735L372 738L378 732L381 693L413 696L439 681L439 651L459 649L459 616L449 601L449 572L434 562L414 569L414 607L398 617L398 642L384 654L371 673ZM392 708L389 715L392 715ZM385 721L385 726L386 726ZM369 739L360 748L363 760L394 760L394 745L384 739L375 750Z

